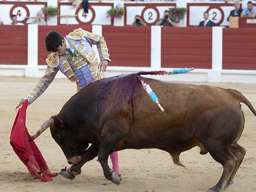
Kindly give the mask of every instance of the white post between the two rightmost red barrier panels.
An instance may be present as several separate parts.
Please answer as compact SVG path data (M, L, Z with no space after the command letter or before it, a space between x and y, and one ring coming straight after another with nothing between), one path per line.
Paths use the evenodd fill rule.
M222 70L222 27L212 27L212 71L208 73L209 82L221 82Z

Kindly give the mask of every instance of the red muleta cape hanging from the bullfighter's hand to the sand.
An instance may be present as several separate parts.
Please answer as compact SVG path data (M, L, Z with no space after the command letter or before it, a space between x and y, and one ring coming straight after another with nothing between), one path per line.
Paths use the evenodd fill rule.
M51 177L57 176L58 173L50 172L35 142L28 142L31 136L26 128L27 107L28 101L26 100L19 109L12 126L10 144L32 176L37 176L36 178L40 178L41 181L52 181Z

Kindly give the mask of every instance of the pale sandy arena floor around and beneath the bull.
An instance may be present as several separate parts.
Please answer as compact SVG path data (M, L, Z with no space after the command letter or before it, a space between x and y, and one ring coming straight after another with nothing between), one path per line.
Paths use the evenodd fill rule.
M221 177L222 166L209 154L199 154L193 148L180 155L186 168L175 166L167 152L157 149L119 151L119 166L123 180L119 186L105 179L102 167L93 159L82 167L81 175L70 181L62 176L52 182L34 180L9 144L20 99L26 97L38 79L0 77L0 191L10 192L207 192ZM256 108L256 84L196 83L233 88L241 91ZM64 87L64 89L63 89ZM27 109L26 127L30 134L49 117L57 114L65 102L76 93L76 85L68 79L55 79L46 92ZM244 161L227 192L256 191L256 117L242 104L245 128L239 144L246 148ZM55 173L68 166L61 148L50 131L35 140L49 169ZM110 166L111 161L109 160Z

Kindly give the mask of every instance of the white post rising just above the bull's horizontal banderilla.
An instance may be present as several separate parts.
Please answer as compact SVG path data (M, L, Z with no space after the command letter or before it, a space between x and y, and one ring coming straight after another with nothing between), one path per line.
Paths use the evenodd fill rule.
M151 26L151 68L161 68L161 26Z

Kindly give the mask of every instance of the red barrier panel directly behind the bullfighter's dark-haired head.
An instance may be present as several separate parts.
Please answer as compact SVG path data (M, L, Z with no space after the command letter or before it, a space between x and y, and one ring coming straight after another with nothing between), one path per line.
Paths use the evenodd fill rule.
M78 29L81 27L82 29L91 32L91 25L70 25L70 26L38 26L38 65L46 65L46 58L50 52L47 52L45 49L44 38L49 31L57 31L63 37L66 37L70 32L74 29Z

